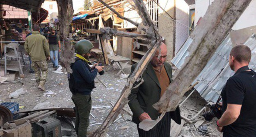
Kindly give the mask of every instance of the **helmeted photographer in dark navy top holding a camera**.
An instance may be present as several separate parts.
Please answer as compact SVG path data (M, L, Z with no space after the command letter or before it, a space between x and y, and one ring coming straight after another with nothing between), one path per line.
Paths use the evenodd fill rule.
M89 40L80 40L75 44L75 63L71 64L73 73L68 73L69 88L75 104L75 131L78 137L87 137L89 115L91 111L91 91L95 88L94 79L104 66L89 66L90 51L93 44ZM93 71L91 68L95 68Z

